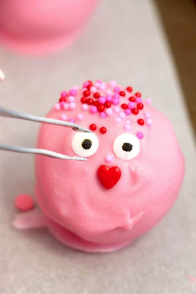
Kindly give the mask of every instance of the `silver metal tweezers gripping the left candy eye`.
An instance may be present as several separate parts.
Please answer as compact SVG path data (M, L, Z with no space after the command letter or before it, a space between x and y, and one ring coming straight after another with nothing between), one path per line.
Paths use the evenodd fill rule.
M58 125L58 126L66 126L66 127L72 128L74 131L91 133L90 130L83 128L81 126L78 126L75 123L71 123L68 121L60 121L60 120L54 119L54 118L35 116L32 114L28 114L28 113L21 113L21 112L12 111L12 110L9 110L9 109L3 108L3 107L0 107L0 114L1 114L1 116L6 116L6 117L10 117L10 118L21 118L21 119L28 120L28 121L37 121L37 122L41 122L41 123L51 123L51 124ZM20 146L10 146L10 145L6 145L6 144L1 144L0 149L6 150L6 151L21 152L21 153L41 154L41 155L45 155L48 157L61 158L61 159L87 160L87 158L84 158L84 157L79 157L79 156L71 157L71 156L61 154L61 153L53 152L53 151L46 150L46 149L40 149L40 148L25 148L25 147L20 147Z

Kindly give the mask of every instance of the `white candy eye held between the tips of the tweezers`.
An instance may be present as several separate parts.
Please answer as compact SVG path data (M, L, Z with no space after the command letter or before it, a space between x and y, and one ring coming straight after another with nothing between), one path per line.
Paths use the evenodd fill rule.
M89 157L97 151L99 141L93 133L78 132L74 135L71 145L77 155Z

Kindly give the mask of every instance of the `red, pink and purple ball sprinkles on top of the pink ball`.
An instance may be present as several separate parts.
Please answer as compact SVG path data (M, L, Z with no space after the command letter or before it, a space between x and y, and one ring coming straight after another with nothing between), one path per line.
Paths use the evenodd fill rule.
M94 84L92 81L86 81L82 85L82 95L79 98L81 102L81 110L89 111L92 115L98 114L100 118L106 118L111 115L115 115L114 121L116 123L122 122L125 118L130 115L138 116L137 123L139 126L147 125L151 126L153 120L149 112L142 112L144 104L141 98L141 93L133 92L133 88L128 86L123 91L116 85L115 81L110 81L107 85L103 81L97 80ZM104 92L104 94L103 94ZM58 110L74 110L76 109L76 96L78 94L78 86L73 86L69 91L62 91L58 103L54 105L54 108ZM123 103L120 100L124 98ZM78 101L77 101L78 102ZM151 98L145 99L145 104L150 105L152 103ZM142 116L142 117L141 117ZM67 113L61 115L63 121L70 121L75 123L75 119L78 121L83 120L83 113L77 113L75 118L68 118ZM96 131L96 124L92 123L89 126L91 131ZM123 125L125 131L131 130L131 121L129 119L125 120ZM99 128L100 133L106 133L107 129L102 126ZM141 131L136 133L139 139L143 138L143 133Z

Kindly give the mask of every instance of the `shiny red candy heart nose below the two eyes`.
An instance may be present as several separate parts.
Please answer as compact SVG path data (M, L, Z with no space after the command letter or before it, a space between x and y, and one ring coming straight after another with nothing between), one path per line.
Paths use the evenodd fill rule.
M102 183L103 187L106 189L112 188L120 179L121 171L118 166L109 166L102 165L98 168L98 178Z

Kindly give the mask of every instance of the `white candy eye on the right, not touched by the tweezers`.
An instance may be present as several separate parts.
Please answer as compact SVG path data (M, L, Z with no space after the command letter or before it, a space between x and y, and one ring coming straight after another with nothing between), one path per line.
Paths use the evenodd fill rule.
M115 139L113 150L118 158L130 160L138 155L140 142L132 134L122 134Z

